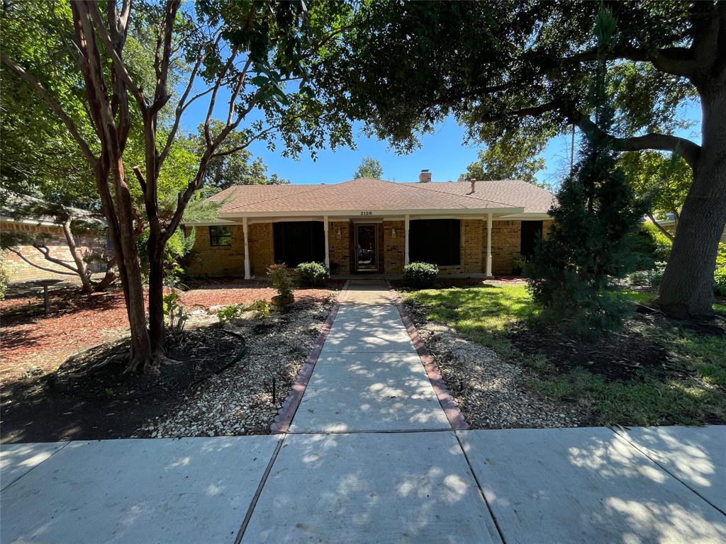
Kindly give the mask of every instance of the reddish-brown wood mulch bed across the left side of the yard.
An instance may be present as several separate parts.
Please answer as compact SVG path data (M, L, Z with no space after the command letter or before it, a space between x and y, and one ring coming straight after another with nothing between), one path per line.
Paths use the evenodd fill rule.
M330 281L328 288L296 289L301 301L322 300L330 289L340 289L343 281ZM269 283L239 279L217 279L194 284L182 293L189 310L213 305L248 304L271 300L275 294ZM0 301L3 360L0 381L4 385L37 374L54 371L74 353L125 336L129 329L123 292L113 289L90 295L78 289L51 292L51 314L44 315L42 297L20 297ZM30 376L29 376L30 375Z

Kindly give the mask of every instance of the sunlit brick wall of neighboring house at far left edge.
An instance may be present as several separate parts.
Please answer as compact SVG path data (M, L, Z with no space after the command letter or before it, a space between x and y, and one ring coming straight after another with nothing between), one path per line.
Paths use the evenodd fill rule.
M68 264L71 266L76 265L76 263L73 262L73 257L70 255L68 244L65 242L65 236L63 235L63 231L60 226L3 221L1 230L4 233L23 232L25 234L45 234L48 236L45 240L45 244L50 250L50 256L68 261ZM104 253L105 236L78 236L76 237L76 245L81 257L92 254L100 255ZM17 250L20 250L20 252L23 253L23 256L31 263L36 263L44 268L50 268L51 270L57 270L59 272L70 272L67 268L63 268L62 266L45 260L43 254L36 250L36 248L32 245L17 246ZM12 283L30 281L34 279L62 279L72 281L74 277L77 277L68 276L67 274L55 274L41 270L40 268L36 268L33 265L25 263L23 259L11 251L3 252L3 262L9 273L10 282ZM105 270L105 265L102 263L91 263L89 268L91 272L99 272Z

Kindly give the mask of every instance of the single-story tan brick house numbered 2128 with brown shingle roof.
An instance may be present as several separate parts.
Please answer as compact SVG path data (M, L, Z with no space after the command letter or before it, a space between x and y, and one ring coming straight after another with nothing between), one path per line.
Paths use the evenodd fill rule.
M196 228L197 276L265 276L272 263L325 263L333 276L400 275L436 263L449 276L513 272L552 224L554 197L519 180L399 184L357 178L340 184L234 186L210 197L219 221Z

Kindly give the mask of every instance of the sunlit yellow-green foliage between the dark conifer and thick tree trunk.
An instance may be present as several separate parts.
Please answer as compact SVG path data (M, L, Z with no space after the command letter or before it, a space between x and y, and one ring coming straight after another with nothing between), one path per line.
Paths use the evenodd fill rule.
M677 155L666 157L654 151L623 153L619 162L628 173L636 194L650 201L650 221L673 242L674 234L661 226L656 218L662 220L672 216L678 226L680 210L692 181L688 163Z

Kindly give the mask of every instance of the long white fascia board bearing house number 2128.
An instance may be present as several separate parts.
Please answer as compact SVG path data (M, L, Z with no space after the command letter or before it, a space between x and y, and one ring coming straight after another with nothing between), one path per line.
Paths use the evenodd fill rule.
M340 210L340 211L314 211L314 212L287 212L285 215L281 213L271 212L221 212L219 216L221 218L229 218L241 220L241 218L277 218L281 221L290 221L286 218L301 218L300 221L305 221L302 218L320 218L316 221L322 221L322 217L327 215L330 218L375 218L391 216L401 217L401 215L411 215L416 217L441 217L441 216L462 216L470 217L471 215L483 215L485 213L497 213L497 214L518 214L523 213L523 207L485 207L485 208L465 208L462 210Z

